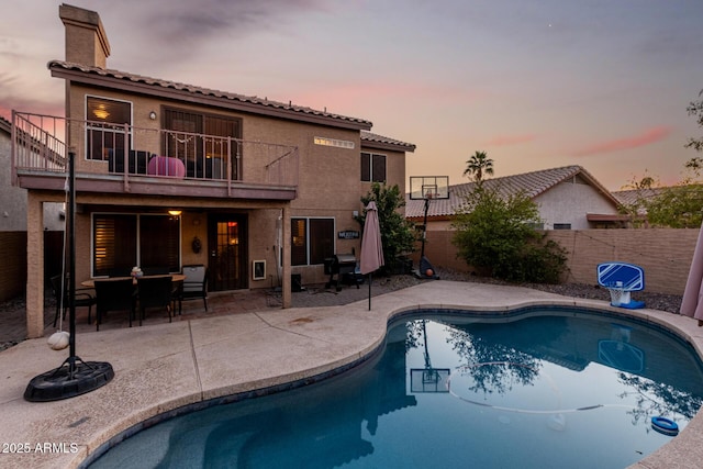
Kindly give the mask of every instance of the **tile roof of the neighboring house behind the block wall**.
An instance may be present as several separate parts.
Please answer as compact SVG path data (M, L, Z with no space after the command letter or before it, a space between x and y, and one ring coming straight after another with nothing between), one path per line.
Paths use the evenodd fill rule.
M534 199L577 175L583 177L590 185L594 186L606 198L611 199L614 204L618 203L607 189L581 166L565 166L561 168L543 169L521 175L486 179L483 185L486 188L498 190L504 197L514 196L522 191L531 199ZM464 205L466 197L473 191L475 187L475 182L449 186L449 199L433 200L427 210L427 217L446 219L453 216L457 210ZM422 219L424 214L425 202L423 200L410 200L410 194L405 194L405 217Z

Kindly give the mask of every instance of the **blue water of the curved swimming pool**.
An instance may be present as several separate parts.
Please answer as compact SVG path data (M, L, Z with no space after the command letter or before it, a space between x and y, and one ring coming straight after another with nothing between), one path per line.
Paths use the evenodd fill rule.
M91 468L624 468L703 403L703 366L658 327L576 310L405 316L365 364L185 414Z

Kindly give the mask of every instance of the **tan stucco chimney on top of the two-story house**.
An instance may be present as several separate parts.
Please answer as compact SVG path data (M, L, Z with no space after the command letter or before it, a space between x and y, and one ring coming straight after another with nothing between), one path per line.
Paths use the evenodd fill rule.
M58 18L66 26L66 62L105 68L110 43L100 15L64 3L58 7Z

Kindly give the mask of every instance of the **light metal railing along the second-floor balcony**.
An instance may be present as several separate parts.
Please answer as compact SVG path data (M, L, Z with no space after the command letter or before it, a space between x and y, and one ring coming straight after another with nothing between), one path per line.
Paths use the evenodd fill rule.
M71 148L77 177L119 177L125 186L130 179L167 178L298 187L299 152L290 145L16 111L12 122L15 178L19 172L65 172Z

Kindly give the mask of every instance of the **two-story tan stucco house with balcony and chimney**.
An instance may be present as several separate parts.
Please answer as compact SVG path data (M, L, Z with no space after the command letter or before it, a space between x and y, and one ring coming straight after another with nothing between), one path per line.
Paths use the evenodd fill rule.
M372 134L371 122L292 103L107 68L98 13L63 4L66 119L15 113L18 132L51 143L19 146L16 183L29 191L30 264L41 264L41 208L63 200L75 153L76 277L132 266L202 264L209 289L325 280L324 259L359 253L354 213L373 181L405 187L414 145ZM256 268L254 268L256 264ZM27 328L43 333L42 272L27 278Z

